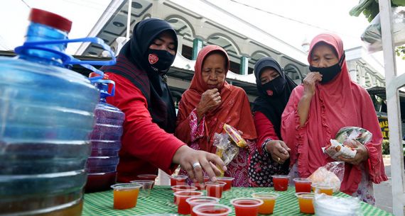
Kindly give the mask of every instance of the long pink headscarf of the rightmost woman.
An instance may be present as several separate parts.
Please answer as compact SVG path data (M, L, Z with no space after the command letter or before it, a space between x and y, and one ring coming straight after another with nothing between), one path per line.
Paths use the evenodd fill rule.
M311 53L319 42L324 42L333 47L338 53L339 59L344 57L343 43L338 35L323 33L313 38L308 53L308 62L311 63ZM298 104L302 95L303 85L301 84L291 93L290 100ZM288 103L284 114L296 112L290 110L289 105ZM306 125L297 127L299 120L298 123L296 121L284 121L284 115L282 120L284 142L296 145L295 152L291 152L291 164L298 160L298 173L301 177L308 177L318 167L332 161L322 152L321 147L325 147L330 139L334 139L338 130L345 126L357 126L363 127L373 134L372 141L367 144L369 149L368 163L377 164L377 161L381 162L378 166L374 165L376 166L374 167L375 170L369 171L369 173L374 174L370 174L370 178L374 183L387 180L382 163L382 133L377 115L374 112L374 106L367 91L350 80L345 61L342 63L341 72L335 76L335 79L327 84L315 84L315 94L311 100ZM291 126L291 124L293 125ZM361 180L360 167L345 164L345 176L340 191L348 194L354 193Z

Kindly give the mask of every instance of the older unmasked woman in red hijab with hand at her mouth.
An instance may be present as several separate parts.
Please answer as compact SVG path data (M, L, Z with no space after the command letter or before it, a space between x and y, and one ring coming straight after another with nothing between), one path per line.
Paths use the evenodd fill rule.
M225 176L234 178L233 186L247 187L248 151L257 135L246 93L225 81L228 70L229 57L222 47L208 45L198 53L190 89L179 104L175 136L193 149L215 153L213 137L223 132L225 123L241 131L248 149L239 149Z

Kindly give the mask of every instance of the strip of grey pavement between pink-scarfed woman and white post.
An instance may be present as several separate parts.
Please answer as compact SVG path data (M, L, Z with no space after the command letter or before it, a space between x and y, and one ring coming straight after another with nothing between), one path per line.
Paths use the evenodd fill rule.
M384 166L388 181L374 184L374 195L377 207L392 213L391 161L389 158L384 158Z

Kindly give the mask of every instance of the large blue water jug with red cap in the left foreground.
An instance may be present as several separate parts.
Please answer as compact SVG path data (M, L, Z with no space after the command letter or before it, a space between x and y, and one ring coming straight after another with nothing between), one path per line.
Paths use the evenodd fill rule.
M38 9L29 20L18 57L0 57L0 215L81 215L99 91L66 69L72 23Z

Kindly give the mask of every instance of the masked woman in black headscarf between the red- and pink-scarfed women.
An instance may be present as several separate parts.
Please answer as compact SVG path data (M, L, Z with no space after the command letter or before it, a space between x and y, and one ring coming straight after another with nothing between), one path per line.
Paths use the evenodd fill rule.
M254 65L259 97L254 101L254 125L257 152L249 164L252 186L273 186L271 175L288 174L288 147L281 140L281 114L296 84L284 74L280 64L271 57L259 59Z

